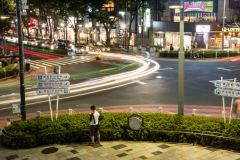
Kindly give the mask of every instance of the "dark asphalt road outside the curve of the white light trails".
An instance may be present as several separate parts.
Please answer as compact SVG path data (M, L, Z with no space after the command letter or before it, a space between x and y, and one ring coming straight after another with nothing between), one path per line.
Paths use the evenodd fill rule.
M178 103L178 62L176 59L156 59L161 65L158 72L143 77L139 82L120 88L98 93L75 95L72 98L60 99L59 109L88 108L90 104L97 107L127 105L173 105ZM87 64L85 64L87 65ZM85 66L86 67L86 66ZM214 84L210 81L240 79L239 61L230 60L186 60L185 61L185 105L222 106L222 98L214 95ZM225 98L230 106L231 98ZM53 101L53 105L55 106ZM49 111L48 101L26 106L27 113ZM1 116L12 115L11 110L2 110Z

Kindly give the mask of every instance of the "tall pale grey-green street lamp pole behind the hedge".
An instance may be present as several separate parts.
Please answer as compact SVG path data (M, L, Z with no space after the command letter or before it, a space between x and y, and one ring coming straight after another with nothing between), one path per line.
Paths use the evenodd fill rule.
M184 115L184 0L170 1L169 8L180 9L180 51L178 53L178 114Z

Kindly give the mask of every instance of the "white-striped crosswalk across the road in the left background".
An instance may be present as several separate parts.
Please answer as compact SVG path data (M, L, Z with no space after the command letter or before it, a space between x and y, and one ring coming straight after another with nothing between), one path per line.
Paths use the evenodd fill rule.
M41 59L41 60L32 60L31 61L31 67L32 68L43 68L43 67L50 67L50 66L64 66L64 65L70 65L70 64L77 64L77 63L86 63L91 62L95 60L94 57L91 56L81 56L81 57L63 57L59 59L54 60L47 60L47 59Z

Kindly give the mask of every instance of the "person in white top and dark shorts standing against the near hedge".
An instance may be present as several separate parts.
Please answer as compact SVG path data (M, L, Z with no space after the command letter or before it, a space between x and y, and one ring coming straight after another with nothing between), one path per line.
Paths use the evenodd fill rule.
M92 113L90 114L90 138L91 138L91 143L89 144L90 146L94 146L95 144L100 144L100 132L99 132L99 116L100 114L96 110L96 107L94 105L90 106L90 109L92 110ZM97 141L94 142L94 135L97 136Z

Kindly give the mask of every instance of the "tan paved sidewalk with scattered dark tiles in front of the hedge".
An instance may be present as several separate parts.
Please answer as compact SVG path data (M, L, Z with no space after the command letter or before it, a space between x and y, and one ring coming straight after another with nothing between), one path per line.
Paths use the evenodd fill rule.
M185 143L104 141L53 144L31 149L0 146L0 159L6 160L239 160L240 153Z

